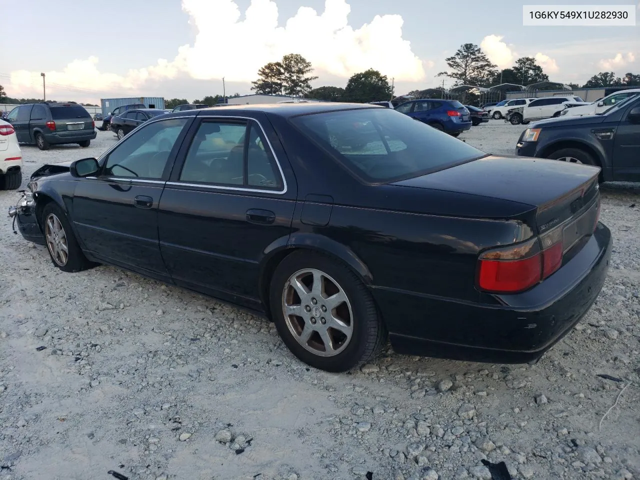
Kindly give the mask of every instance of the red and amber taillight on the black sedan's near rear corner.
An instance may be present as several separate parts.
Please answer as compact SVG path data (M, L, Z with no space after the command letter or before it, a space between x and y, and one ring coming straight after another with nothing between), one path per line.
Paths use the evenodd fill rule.
M542 259L538 239L484 252L480 256L478 286L493 293L516 293L540 282Z

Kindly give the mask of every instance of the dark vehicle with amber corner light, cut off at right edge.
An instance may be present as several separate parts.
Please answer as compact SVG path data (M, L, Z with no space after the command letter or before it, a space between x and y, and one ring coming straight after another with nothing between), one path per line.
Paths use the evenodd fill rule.
M600 181L640 181L640 95L605 113L561 116L531 124L516 154L602 168Z

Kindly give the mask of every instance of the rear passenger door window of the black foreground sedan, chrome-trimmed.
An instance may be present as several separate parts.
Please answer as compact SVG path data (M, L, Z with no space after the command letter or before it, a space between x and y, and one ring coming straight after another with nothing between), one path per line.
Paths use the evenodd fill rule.
M180 181L282 188L282 177L260 129L253 122L232 120L205 120L200 124L180 172Z

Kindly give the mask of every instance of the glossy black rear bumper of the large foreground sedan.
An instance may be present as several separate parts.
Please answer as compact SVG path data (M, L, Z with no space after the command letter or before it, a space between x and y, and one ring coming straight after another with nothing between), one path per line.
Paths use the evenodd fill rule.
M570 332L596 301L611 248L609 228L598 223L582 250L563 268L527 292L497 297L500 305L383 289L374 289L374 298L398 353L472 362L531 362ZM411 318L409 312L425 313Z

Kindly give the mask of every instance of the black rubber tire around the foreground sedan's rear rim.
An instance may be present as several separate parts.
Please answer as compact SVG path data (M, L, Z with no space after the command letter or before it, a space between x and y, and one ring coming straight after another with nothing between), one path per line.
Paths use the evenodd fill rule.
M317 355L305 348L294 337L294 333L287 325L283 311L285 290L289 285L289 278L304 269L317 269L324 275L331 277L330 280L335 280L346 294L351 306L351 328L353 330L351 339L346 342L342 351L333 356ZM322 305L322 300L318 305ZM387 341L387 329L367 287L351 269L326 255L300 250L285 257L271 278L269 302L273 321L285 345L305 364L317 369L328 372L348 371L374 358ZM302 305L302 301L300 305ZM346 303L342 305L344 306ZM301 317L298 318L301 320ZM317 334L314 333L314 335ZM312 336L307 340L307 346L313 338ZM319 339L319 335L316 338Z

